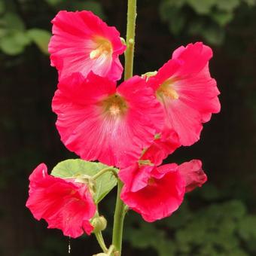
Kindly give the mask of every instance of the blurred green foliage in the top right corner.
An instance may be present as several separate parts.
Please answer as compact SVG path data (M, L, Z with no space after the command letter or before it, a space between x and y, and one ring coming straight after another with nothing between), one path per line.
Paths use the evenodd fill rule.
M177 37L200 36L209 44L222 44L225 28L239 5L255 5L255 0L162 0L160 17Z

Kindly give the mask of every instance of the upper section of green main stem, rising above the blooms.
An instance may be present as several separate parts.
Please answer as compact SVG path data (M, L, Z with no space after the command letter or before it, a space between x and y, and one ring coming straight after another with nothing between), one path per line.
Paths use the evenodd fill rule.
M124 80L133 76L136 16L136 0L128 0Z

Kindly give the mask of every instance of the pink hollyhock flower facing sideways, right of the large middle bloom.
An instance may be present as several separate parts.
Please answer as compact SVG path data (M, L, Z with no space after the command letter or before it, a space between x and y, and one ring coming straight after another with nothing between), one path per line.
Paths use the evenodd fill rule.
M148 78L166 113L164 130L178 134L181 145L200 139L202 123L220 111L218 88L209 73L212 50L203 43L179 47L157 75Z

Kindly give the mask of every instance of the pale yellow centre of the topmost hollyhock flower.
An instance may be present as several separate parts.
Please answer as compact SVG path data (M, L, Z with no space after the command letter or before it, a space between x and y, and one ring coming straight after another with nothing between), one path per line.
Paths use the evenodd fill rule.
M99 56L108 55L112 53L111 42L105 38L96 37L95 39L96 47L90 52L90 59L97 59Z

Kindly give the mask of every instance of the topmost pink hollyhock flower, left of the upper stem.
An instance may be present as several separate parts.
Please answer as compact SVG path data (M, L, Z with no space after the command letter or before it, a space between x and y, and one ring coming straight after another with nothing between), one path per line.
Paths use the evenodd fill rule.
M114 81L120 79L123 67L118 56L126 47L117 29L90 11L59 11L52 23L49 52L59 80L74 72L86 77L90 71Z

